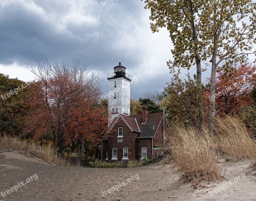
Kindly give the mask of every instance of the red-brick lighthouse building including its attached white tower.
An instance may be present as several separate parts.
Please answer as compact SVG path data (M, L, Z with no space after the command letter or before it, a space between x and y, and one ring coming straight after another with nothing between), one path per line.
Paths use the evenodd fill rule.
M160 147L165 146L165 131L169 123L164 112L142 113L130 116L131 75L126 68L114 67L114 73L108 74L109 111L111 113L107 137L101 141L102 160L134 160L156 156ZM106 97L105 97L106 98Z

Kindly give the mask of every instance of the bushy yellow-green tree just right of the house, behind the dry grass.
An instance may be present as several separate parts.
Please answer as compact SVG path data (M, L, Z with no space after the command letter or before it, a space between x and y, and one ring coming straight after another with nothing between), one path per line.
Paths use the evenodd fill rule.
M184 82L181 79L173 79L164 90L162 104L171 124L200 128L198 104L201 94L203 87L199 87L190 77ZM206 97L203 96L203 103Z

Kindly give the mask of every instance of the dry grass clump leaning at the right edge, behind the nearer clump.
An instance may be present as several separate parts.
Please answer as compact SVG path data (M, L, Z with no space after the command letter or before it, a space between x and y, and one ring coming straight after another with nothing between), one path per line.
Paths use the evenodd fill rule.
M217 121L215 134L222 156L233 161L256 158L256 143L246 127L236 118L227 117Z

